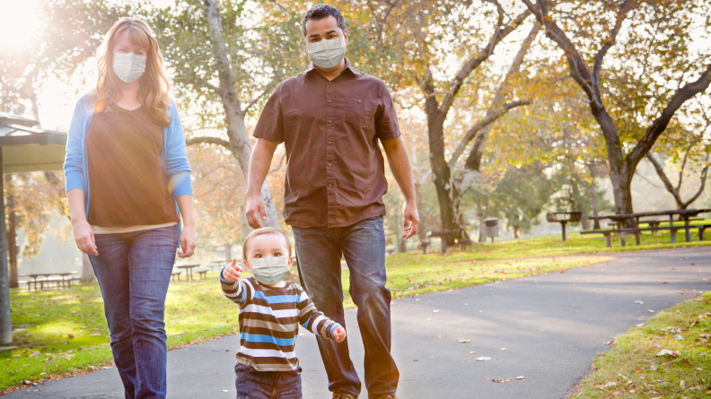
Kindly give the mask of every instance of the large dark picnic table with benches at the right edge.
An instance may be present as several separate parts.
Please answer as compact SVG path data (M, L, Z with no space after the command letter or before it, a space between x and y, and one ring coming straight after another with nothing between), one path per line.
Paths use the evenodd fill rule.
M696 224L691 225L689 221L695 220L696 216L700 213L709 213L711 209L677 209L672 211L657 211L657 212L646 212L646 213L626 213L626 214L614 214L601 216L600 218L610 219L617 224L616 228L611 230L586 230L582 231L581 234L595 234L599 233L605 236L605 245L610 247L610 235L613 233L619 233L619 242L622 247L625 247L626 240L625 235L631 233L635 235L636 245L640 244L639 235L642 231L652 231L653 233L659 230L669 230L671 243L676 243L676 233L677 230L685 230L686 242L691 241L691 229L698 229L698 238L700 240L705 240L704 230L711 228L711 224ZM652 216L668 216L669 226L660 226L663 221L640 221L640 218L652 217ZM678 217L678 220L684 221L683 226L674 226L674 216ZM636 228L625 228L629 220L636 221ZM696 219L698 221L698 219ZM640 223L647 223L649 228L643 229L639 227Z

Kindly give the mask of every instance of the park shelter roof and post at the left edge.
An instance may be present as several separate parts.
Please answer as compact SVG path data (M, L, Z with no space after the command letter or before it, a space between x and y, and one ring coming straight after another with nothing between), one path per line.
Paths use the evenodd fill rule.
M4 173L62 169L66 133L43 130L40 122L0 112L0 209L4 210ZM0 218L0 344L13 341L7 239Z

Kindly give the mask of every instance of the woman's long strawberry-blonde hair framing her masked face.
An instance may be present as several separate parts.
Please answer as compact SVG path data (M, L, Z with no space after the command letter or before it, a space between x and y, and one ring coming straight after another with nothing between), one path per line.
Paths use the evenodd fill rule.
M118 33L123 30L127 30L131 43L145 48L148 53L145 73L139 81L138 100L145 105L156 124L170 126L168 108L171 107L171 100L168 92L171 90L171 78L165 70L161 49L153 30L138 18L124 17L114 23L97 51L99 78L96 82L96 94L92 96L92 101L97 104L96 112L101 112L104 107L109 109L120 96L120 82L118 76L113 73L113 48Z

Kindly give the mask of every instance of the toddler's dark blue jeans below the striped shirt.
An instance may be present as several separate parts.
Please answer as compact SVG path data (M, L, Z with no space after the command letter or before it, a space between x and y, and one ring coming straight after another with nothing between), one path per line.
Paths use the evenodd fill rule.
M237 363L237 399L302 399L298 371L257 371Z

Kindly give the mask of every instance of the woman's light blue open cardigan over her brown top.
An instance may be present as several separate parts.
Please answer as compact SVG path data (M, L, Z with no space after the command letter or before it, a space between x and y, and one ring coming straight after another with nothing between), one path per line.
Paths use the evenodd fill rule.
M73 188L79 188L84 192L84 209L87 217L89 216L92 191L89 186L89 173L86 169L88 165L86 132L89 131L89 126L92 124L95 106L91 97L92 93L89 93L76 101L74 117L69 125L69 134L66 139L64 164L66 192ZM185 134L180 124L178 108L173 100L171 100L171 108L168 109L168 116L171 118L171 126L163 127L161 160L165 178L168 180L168 186L171 189L173 201L175 201L180 195L193 195L193 191L190 181L190 164L185 150ZM175 208L180 216L177 203Z

